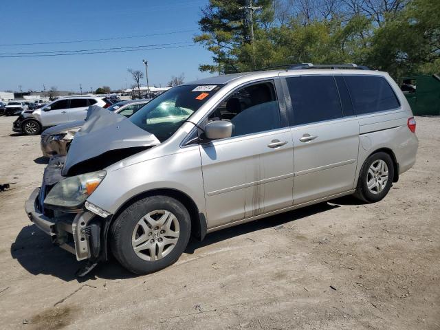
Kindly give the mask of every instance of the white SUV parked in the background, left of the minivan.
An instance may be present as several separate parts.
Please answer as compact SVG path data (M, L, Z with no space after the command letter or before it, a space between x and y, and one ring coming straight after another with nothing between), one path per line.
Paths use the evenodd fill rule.
M110 107L107 98L96 96L71 96L59 98L34 111L23 111L12 124L12 130L25 135L37 135L44 129L66 122L85 120L90 105Z

